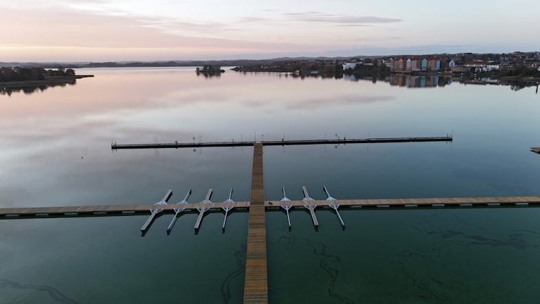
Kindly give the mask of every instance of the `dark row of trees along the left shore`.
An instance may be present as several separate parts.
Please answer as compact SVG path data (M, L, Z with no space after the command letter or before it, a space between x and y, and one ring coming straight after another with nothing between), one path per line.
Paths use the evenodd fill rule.
M42 67L0 67L0 83L8 81L47 80L51 77L75 76L74 69L43 69Z

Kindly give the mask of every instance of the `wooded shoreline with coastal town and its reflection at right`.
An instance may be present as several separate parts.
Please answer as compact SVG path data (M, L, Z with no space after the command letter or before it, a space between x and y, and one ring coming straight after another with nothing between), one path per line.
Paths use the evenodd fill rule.
M454 81L471 85L508 85L513 91L539 86L540 52L508 54L434 54L313 58L244 65L236 72L288 72L293 77L377 80L392 86L442 87Z

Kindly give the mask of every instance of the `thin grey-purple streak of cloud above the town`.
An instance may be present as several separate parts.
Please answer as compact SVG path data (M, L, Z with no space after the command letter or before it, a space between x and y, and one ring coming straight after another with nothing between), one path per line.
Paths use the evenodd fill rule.
M323 12L289 12L286 13L289 21L322 22L336 24L374 24L374 23L396 23L402 19L374 17L374 16L350 16L344 14L327 14Z

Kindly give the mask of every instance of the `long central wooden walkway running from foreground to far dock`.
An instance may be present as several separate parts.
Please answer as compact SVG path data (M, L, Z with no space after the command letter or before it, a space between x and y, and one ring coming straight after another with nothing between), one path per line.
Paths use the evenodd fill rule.
M254 144L251 206L247 230L244 303L268 303L265 189L262 186L262 144Z

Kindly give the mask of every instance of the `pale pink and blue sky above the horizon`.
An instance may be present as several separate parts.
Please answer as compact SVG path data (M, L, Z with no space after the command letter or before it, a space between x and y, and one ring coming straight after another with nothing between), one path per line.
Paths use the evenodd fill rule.
M0 0L0 62L540 51L540 1Z

